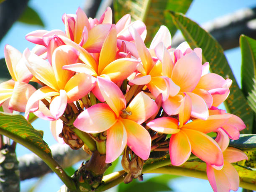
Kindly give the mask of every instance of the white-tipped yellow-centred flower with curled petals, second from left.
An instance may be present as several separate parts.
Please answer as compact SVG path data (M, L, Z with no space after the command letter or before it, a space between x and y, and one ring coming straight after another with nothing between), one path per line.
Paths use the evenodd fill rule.
M59 46L54 50L51 65L29 49L24 51L29 71L46 85L28 99L26 118L30 111L38 110L40 100L52 97L49 107L52 117L49 117L49 120L56 120L64 113L67 102L74 102L92 90L95 81L90 75L84 73L74 75L74 72L62 69L63 65L76 63L78 55L78 51L73 47Z

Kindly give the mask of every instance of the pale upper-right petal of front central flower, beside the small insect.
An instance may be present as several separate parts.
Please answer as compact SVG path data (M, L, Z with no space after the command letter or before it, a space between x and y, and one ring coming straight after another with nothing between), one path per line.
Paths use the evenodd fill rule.
M131 111L131 115L129 115L127 119L131 119L138 124L141 124L154 115L156 110L156 103L141 91L133 98L129 106L126 108L127 112Z

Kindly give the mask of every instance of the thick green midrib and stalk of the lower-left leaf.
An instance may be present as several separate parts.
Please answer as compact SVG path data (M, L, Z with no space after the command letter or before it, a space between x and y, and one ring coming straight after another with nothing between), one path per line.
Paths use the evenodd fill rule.
M53 172L55 172L58 177L61 179L62 182L71 190L76 189L76 185L71 177L67 175L67 173L59 166L59 164L52 158L51 154L46 154L45 151L38 149L37 146L33 145L32 143L29 143L28 141L24 140L23 138L19 136L15 136L13 133L5 130L0 129L0 134L3 134L11 139L13 141L20 143L21 145L28 148L30 151L32 151L34 154L39 156L50 168Z

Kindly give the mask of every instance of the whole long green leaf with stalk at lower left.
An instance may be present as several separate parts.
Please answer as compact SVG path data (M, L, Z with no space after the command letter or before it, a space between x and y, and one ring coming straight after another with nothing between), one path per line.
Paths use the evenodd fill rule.
M51 149L43 140L43 131L37 131L22 115L0 113L0 134L22 144L38 155L69 187L75 189L74 181L52 158Z

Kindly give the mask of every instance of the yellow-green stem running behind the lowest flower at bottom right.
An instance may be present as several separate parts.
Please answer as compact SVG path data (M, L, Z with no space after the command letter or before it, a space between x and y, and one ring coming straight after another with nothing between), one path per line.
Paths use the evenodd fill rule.
M160 174L172 174L186 177L195 177L199 179L208 180L206 172L197 171L193 169L182 168L179 166L163 166L157 169L147 171L145 173L160 173ZM240 187L250 190L256 190L256 185L253 183L247 183L240 181Z

